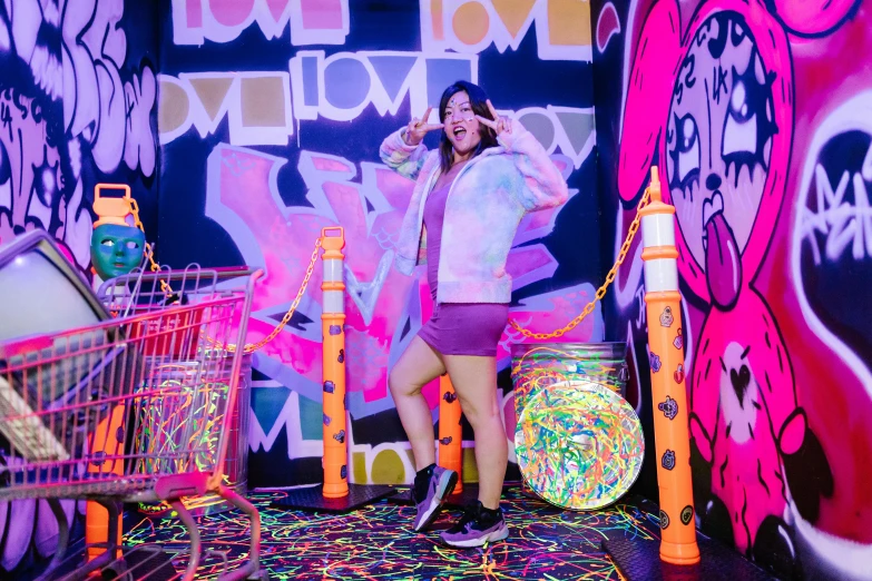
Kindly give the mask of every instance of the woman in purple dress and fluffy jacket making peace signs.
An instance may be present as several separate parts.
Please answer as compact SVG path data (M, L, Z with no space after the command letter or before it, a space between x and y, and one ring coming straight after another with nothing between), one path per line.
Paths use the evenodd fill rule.
M390 388L412 445L418 474L414 530L432 523L458 474L435 465L433 423L421 390L448 372L476 434L479 500L442 540L478 546L506 539L499 506L508 444L497 397L497 345L508 323L512 283L506 273L525 214L566 201L560 171L517 120L501 118L484 91L458 81L442 93L440 124L423 119L389 136L385 165L415 180L395 264L411 275L427 264L434 308L391 371ZM421 142L441 129L439 149Z

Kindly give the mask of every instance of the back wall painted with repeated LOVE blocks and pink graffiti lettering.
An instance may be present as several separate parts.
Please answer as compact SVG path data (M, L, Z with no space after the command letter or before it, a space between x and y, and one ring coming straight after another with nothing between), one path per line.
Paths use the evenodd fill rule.
M160 10L160 260L263 266L256 341L296 296L321 229L342 226L350 480L410 482L388 374L432 304L421 272L392 266L413 184L380 163L379 146L458 79L532 131L571 197L521 224L512 316L537 331L565 324L600 276L589 3L166 0ZM322 477L320 283L316 263L290 324L254 357L253 486ZM597 309L567 338L602 333ZM518 341L507 331L499 354L510 441ZM435 382L425 395L435 426ZM472 445L467 427L464 477L474 481Z

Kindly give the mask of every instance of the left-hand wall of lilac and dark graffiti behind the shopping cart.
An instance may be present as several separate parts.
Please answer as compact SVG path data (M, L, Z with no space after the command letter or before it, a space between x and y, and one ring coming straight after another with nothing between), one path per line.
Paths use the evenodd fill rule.
M123 0L0 2L0 244L45 229L90 276L100 181L129 184L155 232L154 10ZM76 508L65 510L74 523ZM29 577L57 534L45 501L0 503L0 571Z

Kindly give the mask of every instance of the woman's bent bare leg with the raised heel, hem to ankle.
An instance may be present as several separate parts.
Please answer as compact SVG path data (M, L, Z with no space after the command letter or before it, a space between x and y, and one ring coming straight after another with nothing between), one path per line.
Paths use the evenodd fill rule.
M444 373L445 366L439 354L415 336L388 378L396 413L412 444L417 471L435 463L433 417L421 390Z

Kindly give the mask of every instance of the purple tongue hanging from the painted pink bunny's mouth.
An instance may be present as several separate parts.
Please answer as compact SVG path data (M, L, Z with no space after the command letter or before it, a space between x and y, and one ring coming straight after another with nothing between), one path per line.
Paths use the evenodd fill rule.
M733 236L724 213L718 211L705 227L708 246L705 253L705 272L712 301L722 309L727 309L738 296L742 284L742 260L738 244Z

